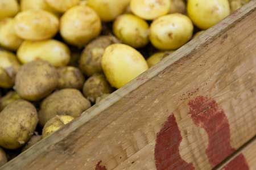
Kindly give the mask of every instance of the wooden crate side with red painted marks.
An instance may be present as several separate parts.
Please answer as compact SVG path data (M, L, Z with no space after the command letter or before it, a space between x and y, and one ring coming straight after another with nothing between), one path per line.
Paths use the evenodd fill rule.
M1 170L256 169L256 1Z

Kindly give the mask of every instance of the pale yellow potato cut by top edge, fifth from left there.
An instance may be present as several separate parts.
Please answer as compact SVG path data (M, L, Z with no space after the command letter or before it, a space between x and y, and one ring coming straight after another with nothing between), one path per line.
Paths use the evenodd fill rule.
M170 11L170 0L131 0L131 11L146 20L153 20Z

